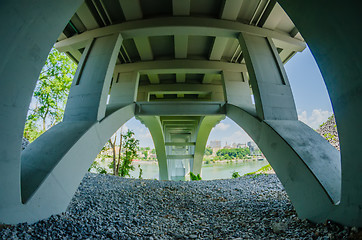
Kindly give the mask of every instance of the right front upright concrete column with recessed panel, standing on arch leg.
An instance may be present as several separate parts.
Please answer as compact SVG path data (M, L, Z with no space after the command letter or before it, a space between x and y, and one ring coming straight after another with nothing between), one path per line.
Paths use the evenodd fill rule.
M298 120L287 75L269 38L241 33L243 51L255 107L262 120Z

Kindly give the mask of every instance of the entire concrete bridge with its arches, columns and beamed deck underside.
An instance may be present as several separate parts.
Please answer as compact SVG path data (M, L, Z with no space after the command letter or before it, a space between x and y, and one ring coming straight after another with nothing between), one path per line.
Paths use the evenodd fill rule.
M259 145L300 218L361 227L358 8L278 2L2 1L0 222L65 211L97 153L134 116L152 134L161 179L200 173L208 135L228 116ZM341 153L297 118L283 63L304 39L330 94ZM64 119L22 152L55 42L78 63Z

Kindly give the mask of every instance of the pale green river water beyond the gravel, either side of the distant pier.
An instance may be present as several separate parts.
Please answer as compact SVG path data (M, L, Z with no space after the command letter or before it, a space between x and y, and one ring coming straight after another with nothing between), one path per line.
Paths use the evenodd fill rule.
M158 179L158 165L156 162L133 162L133 165L135 166L135 171L131 171L131 177L139 177L138 165L140 165L143 170L142 178ZM266 160L203 164L201 176L203 180L226 179L231 178L234 171L242 176L246 173L254 172L266 165L268 165Z

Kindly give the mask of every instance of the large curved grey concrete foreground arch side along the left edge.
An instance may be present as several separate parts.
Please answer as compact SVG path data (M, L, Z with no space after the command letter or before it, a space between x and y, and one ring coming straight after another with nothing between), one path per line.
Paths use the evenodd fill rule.
M0 1L0 222L21 204L21 141L39 73L82 2Z

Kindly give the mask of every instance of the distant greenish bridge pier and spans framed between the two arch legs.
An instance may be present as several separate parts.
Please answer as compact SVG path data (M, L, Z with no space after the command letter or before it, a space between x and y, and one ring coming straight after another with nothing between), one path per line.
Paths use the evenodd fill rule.
M224 115L137 116L151 132L160 180L185 180L190 172L201 174L210 131L223 118Z

